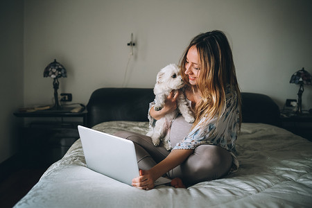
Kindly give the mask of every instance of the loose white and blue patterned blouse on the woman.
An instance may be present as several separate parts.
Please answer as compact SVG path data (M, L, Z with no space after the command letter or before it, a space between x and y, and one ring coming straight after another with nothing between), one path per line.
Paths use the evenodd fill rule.
M196 125L187 137L184 137L182 141L177 143L173 150L178 149L195 149L201 144L211 144L220 146L228 150L233 157L232 171L234 172L239 168L239 161L236 158L235 143L237 134L239 132L239 102L237 100L236 93L231 92L229 88L226 91L226 107L223 114L218 119L217 116L209 119L208 122L203 123L205 119L202 119L198 125ZM189 102L191 103L191 102ZM150 107L154 104L150 103ZM148 111L149 112L149 111ZM148 114L150 120L150 128L153 128L155 119Z

